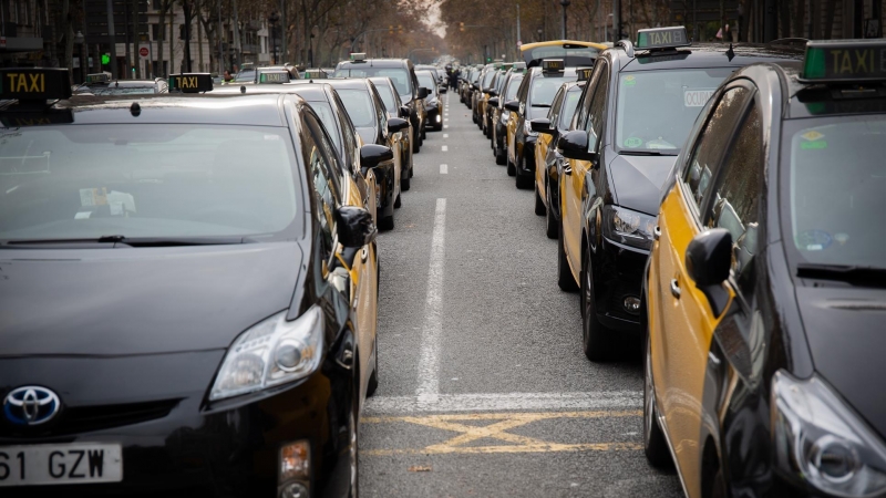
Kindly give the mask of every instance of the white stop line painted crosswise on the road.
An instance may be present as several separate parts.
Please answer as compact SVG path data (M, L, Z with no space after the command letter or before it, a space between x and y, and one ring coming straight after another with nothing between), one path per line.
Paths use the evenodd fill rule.
M375 396L367 400L364 414L640 408L642 398L641 391Z

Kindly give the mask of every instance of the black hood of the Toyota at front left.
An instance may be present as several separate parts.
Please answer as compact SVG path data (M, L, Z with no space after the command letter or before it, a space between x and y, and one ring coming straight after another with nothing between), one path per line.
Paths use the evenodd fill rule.
M228 347L289 308L297 242L0 252L0 357Z

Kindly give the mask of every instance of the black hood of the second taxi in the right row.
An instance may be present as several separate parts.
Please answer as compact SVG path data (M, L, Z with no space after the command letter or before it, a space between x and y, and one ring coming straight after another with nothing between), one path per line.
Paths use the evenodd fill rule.
M674 156L617 155L609 163L609 177L619 206L658 215L661 185L677 159Z

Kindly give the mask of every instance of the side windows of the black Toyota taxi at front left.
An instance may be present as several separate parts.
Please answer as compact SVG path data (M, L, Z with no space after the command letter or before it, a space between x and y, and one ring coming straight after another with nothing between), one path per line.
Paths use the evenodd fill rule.
M319 123L309 113L305 113L308 133L303 134L302 151L310 168L311 188L315 200L315 220L320 227L323 246L323 259L328 259L334 250L336 209L338 208L337 176L330 162L330 152L334 154ZM327 143L326 145L323 143Z

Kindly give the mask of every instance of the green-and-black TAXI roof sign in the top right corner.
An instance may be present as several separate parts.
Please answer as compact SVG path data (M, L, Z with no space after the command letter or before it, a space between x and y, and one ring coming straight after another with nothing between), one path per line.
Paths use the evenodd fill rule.
M886 81L886 41L827 40L806 43L804 83Z

